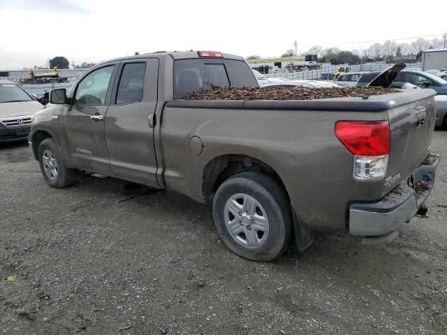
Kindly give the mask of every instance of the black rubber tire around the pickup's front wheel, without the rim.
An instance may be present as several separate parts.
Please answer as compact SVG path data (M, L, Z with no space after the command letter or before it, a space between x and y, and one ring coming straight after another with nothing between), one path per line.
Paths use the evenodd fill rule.
M49 156L49 153L52 154L54 160L56 161L56 165L52 165L56 170L57 174L47 173L47 165L45 165L45 158ZM45 158L44 158L45 155ZM47 138L41 142L38 147L38 161L39 165L41 165L41 172L43 175L43 179L47 182L48 185L54 188L64 188L66 186L70 186L73 184L73 179L70 177L71 170L68 169L62 161L61 151L57 146L56 142L52 138ZM52 177L53 176L53 177Z

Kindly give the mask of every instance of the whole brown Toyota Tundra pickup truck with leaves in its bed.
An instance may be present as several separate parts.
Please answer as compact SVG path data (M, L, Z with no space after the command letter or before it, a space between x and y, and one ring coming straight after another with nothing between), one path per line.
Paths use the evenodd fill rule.
M105 61L36 112L29 144L52 187L95 172L212 202L226 245L272 260L293 237L391 241L423 208L434 91L307 101L190 101L196 89L258 86L241 57L165 52ZM175 206L175 204L172 204Z

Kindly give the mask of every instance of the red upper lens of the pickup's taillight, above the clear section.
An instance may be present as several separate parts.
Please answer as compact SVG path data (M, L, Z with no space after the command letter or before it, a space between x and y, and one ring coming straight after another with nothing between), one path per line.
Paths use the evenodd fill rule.
M335 135L356 156L390 153L388 121L338 121L335 124Z

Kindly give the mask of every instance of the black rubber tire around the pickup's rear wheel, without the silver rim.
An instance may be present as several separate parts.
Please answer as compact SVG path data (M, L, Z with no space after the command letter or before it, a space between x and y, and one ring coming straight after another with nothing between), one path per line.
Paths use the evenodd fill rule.
M236 237L234 237L235 234L231 234L228 230L230 223L228 225L226 224L225 212L228 211L228 207L226 207L227 201L229 202L230 199L235 199L241 194L249 195L254 198L254 200L261 205L262 211L265 211L266 218L268 218L268 234L263 243L256 247L248 247L248 235L246 237L247 246L242 244L244 243L244 232L251 232L251 229L250 231L247 231L249 226L245 225L249 220L242 223L242 221L238 221L240 220L240 217L235 217L231 214L228 216L227 220L231 221L231 217L233 217L233 220L239 222L240 227L237 226L237 224L233 225L233 227L236 228L237 226L244 230L244 232L240 232L240 235L237 235ZM242 206L242 204L240 204L240 206ZM256 211L259 211L258 207L255 209ZM214 196L213 216L217 232L219 232L221 239L223 239L230 250L243 258L257 261L274 260L274 258L279 257L281 253L284 253L288 246L288 240L291 234L291 224L293 221L291 205L287 200L283 189L279 187L274 179L265 174L258 172L242 172L223 181L223 184L219 186L216 195ZM259 232L256 229L254 229L254 231L256 231L255 234L258 238L256 241L261 241L259 239ZM262 237L263 234L261 234L261 239Z

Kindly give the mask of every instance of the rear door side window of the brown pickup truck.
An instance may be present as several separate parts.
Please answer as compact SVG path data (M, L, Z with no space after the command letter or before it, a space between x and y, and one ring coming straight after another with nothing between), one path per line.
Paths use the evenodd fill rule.
M142 101L146 63L124 65L117 93L117 104Z

